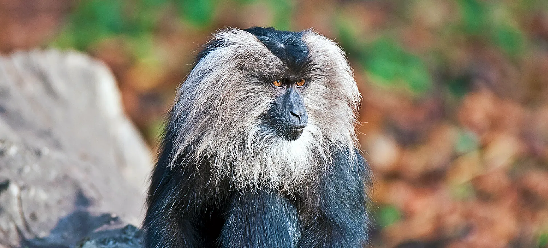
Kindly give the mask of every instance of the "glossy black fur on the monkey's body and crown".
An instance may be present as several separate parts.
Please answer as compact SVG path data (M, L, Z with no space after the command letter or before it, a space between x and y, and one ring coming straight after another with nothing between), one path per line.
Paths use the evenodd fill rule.
M276 52L281 59L298 64L307 54L306 46L300 47L299 33L273 28L246 31L258 36L267 47L276 42L286 44L285 51ZM219 44L208 45L198 59ZM169 117L152 173L143 224L145 247L356 248L367 243L369 217L364 182L370 182L370 170L357 151L358 159L352 160L347 151L333 147L333 163L328 169L314 183L291 195L243 191L236 189L229 178L211 182L213 159L189 159L186 154L191 154L193 146L185 147L175 166L169 166L180 125L184 123Z

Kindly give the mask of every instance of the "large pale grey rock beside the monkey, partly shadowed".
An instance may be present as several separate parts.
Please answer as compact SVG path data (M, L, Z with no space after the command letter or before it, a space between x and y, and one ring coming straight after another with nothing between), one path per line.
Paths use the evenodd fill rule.
M151 165L104 64L73 51L0 57L0 247L72 247L138 225Z

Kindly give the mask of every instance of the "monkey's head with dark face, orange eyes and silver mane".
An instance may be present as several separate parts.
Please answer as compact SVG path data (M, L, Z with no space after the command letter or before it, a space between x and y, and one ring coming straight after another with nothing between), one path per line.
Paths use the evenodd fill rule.
M242 187L313 180L333 147L354 153L359 98L344 52L311 30L222 30L178 90L172 165L207 157Z

